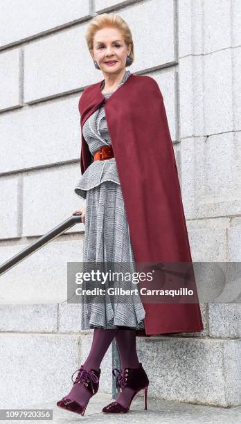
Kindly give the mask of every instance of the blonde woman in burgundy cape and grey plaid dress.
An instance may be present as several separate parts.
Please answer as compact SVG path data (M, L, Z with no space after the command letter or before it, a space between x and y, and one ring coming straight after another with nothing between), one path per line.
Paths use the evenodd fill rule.
M176 255L178 257L174 255L173 260L190 259L175 155L166 115L164 109L160 109L163 102L157 82L148 76L134 76L126 71L125 67L134 61L133 40L130 28L118 15L105 13L94 17L87 29L86 39L94 66L102 71L104 80L84 89L79 103L82 177L75 193L86 198L86 208L73 214L81 213L85 224L84 263L105 264L108 260L114 263L114 267L119 263L128 264L125 269L133 272L137 269L136 260L172 260L168 253L180 252L181 242L184 242L184 254ZM154 134L150 112L155 119ZM159 126L160 116L163 121ZM140 123L136 121L139 118ZM166 173L161 170L161 174L161 157L153 156L152 151L148 154L148 149L153 148L150 143L153 143L153 135L158 138L159 134L166 143L162 145L160 153ZM157 186L152 181L154 172L157 172L157 175L153 175ZM170 198L166 191L161 192L166 178ZM143 200L145 196L147 203ZM157 205L153 207L156 199ZM164 206L170 205L170 199L175 206L171 212L168 210L168 232L162 227L166 226L166 216L163 215L159 224L157 216L160 216L160 212L163 214ZM179 230L175 227L176 220L179 221ZM153 231L155 228L157 231ZM161 237L159 231L163 231ZM166 243L166 233L172 234L169 240L171 247ZM177 247L173 247L175 242ZM166 253L159 243L164 243ZM132 285L125 282L124 287L132 288ZM91 350L77 370L78 376L73 380L71 391L57 402L57 406L84 414L89 399L98 391L102 358L115 338L121 371L114 369L112 372L120 392L116 402L104 407L102 412L128 412L132 399L142 389L146 409L149 380L136 353L136 335L199 331L203 328L198 303L189 304L185 310L180 303L175 309L176 315L173 311L170 304L145 305L139 294L128 296L125 301L120 297L114 300L105 297L105 301L96 303L85 300L81 324L82 329L94 329ZM190 321L186 323L189 312ZM157 315L154 317L155 313Z

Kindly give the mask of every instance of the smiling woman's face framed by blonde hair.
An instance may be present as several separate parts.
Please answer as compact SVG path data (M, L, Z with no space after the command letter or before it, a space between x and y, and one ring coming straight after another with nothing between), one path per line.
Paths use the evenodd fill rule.
M98 30L93 37L93 51L91 56L96 60L101 71L105 73L118 73L125 68L127 55L130 54L132 45L127 46L123 36L116 28L106 27ZM114 60L114 64L107 61Z

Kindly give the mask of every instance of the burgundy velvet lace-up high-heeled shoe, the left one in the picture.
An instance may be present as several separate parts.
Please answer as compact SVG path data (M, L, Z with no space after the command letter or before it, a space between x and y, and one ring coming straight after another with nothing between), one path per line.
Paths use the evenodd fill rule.
M78 376L73 380L73 375L78 371ZM73 384L82 384L84 387L86 387L89 392L91 393L91 397L97 393L99 388L99 379L100 379L100 372L101 370L98 369L90 369L89 371L87 369L84 369L84 367L81 365L80 369L77 369L71 377L71 380L73 381ZM69 398L62 398L61 400L57 401L57 407L66 409L67 411L76 412L76 414L84 415L85 409L87 408L87 405L89 403L89 399L87 400L87 403L82 407L78 404L78 402L75 402L75 400L69 399Z

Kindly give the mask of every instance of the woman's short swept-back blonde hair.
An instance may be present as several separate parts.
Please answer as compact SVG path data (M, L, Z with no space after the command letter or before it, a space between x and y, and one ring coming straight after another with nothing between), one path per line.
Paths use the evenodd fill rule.
M126 64L127 67L134 62L134 45L132 39L132 33L127 25L126 21L119 15L115 13L102 13L101 15L97 15L93 19L91 19L87 31L85 33L85 39L87 41L87 46L89 48L89 52L93 50L93 37L96 32L105 27L116 28L120 31L125 41L125 44L132 44L132 49L130 51L130 62Z

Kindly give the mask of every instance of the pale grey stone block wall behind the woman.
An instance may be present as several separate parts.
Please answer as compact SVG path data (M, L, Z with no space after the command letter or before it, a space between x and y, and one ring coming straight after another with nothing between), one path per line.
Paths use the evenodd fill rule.
M33 6L34 4L34 6ZM84 33L120 14L132 73L163 94L195 261L240 261L239 0L3 0L0 6L0 263L84 204L82 89L102 79ZM129 69L129 68L127 68ZM78 224L0 279L1 407L57 400L87 356L91 331L66 303L66 266L82 258ZM150 396L240 405L240 305L202 303L202 333L138 339ZM100 390L111 393L111 351ZM14 394L14 396L13 396Z

